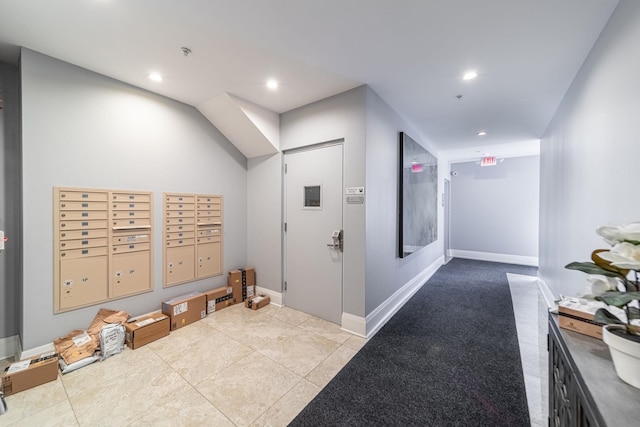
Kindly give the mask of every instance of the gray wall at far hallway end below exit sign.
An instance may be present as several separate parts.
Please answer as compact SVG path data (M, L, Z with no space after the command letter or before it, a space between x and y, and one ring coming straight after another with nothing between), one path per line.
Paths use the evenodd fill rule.
M451 249L538 257L540 156L452 163Z

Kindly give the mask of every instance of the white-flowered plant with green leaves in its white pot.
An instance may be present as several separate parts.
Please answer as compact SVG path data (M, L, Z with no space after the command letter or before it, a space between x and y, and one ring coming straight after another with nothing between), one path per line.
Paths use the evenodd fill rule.
M603 323L602 340L609 346L618 377L640 388L640 222L599 227L596 233L611 245L596 249L592 262L572 262L565 268L588 274L584 298L607 304L594 321Z

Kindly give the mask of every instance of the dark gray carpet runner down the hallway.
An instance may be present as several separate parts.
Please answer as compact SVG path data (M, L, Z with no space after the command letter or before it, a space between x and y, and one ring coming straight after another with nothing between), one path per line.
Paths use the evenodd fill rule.
M529 426L508 272L442 266L290 426Z

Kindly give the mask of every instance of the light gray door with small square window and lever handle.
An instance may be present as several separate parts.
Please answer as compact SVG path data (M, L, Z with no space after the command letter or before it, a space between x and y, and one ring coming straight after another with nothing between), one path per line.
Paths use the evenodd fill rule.
M342 144L284 160L285 305L341 324Z

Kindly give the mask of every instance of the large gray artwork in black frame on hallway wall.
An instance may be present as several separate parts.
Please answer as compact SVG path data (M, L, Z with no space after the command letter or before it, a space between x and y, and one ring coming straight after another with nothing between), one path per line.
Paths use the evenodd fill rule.
M399 256L408 256L438 238L438 159L400 133Z

